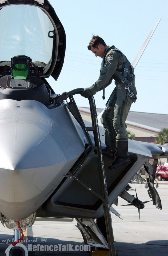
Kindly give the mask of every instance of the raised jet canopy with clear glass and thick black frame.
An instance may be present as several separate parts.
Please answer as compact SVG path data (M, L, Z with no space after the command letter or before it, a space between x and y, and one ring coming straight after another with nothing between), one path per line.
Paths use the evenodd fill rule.
M65 47L64 28L48 1L0 1L1 66L14 56L26 55L44 67L41 77L57 80Z

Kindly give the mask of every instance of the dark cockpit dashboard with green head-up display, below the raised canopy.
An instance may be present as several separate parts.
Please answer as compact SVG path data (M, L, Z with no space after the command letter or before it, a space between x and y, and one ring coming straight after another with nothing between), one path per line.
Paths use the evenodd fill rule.
M5 63L2 62L2 64ZM7 68L7 65L5 66ZM45 105L52 102L52 88L45 79L40 79L39 68L32 63L30 57L14 56L11 61L8 61L8 67L6 74L0 77L0 100L36 100Z

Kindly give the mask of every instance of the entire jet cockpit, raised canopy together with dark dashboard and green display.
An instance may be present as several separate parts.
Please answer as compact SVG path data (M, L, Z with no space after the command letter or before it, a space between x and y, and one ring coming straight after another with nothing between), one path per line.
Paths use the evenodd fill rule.
M45 78L57 80L66 46L53 7L47 0L0 0L0 24L0 100L50 104L54 91Z

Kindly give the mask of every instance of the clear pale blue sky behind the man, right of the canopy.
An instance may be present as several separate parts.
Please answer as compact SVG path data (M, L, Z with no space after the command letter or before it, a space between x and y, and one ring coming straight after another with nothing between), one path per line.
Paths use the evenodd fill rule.
M92 33L115 45L133 62L146 37L161 17L148 46L135 68L137 101L131 111L168 114L168 1L167 0L50 0L64 26L67 38L65 61L55 82L56 93L91 86L99 77L101 58L87 49ZM97 108L104 108L114 81L94 95ZM78 106L89 106L82 96Z

